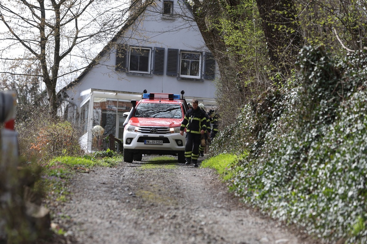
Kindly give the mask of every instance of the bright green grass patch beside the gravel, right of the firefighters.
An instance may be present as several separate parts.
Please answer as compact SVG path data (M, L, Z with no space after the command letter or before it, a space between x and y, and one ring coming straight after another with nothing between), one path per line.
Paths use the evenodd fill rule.
M246 157L246 155L237 156L234 154L222 153L217 156L205 159L201 162L201 168L212 168L217 170L218 174L224 181L230 180L233 177L235 166L239 158Z

